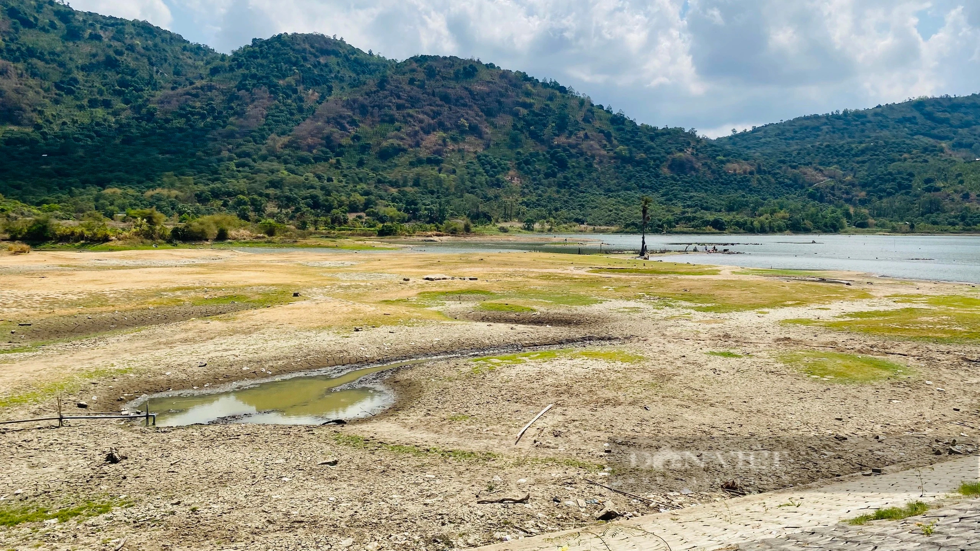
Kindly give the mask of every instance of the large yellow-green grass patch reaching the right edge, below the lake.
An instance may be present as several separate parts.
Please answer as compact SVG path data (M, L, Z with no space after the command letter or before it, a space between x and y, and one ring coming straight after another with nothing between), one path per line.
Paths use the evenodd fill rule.
M969 296L901 297L910 306L844 314L830 320L785 320L784 324L930 342L980 341L980 298Z

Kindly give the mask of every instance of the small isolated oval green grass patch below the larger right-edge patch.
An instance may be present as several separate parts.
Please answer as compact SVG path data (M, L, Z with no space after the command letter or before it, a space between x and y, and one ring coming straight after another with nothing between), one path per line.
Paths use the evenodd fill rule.
M787 352L778 358L782 363L809 376L830 378L838 382L869 382L909 372L906 366L884 358L841 352L804 350Z

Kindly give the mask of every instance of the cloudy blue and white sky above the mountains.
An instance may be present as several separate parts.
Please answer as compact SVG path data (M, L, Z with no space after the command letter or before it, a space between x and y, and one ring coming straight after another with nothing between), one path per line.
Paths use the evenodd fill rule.
M336 34L553 78L638 123L711 137L980 92L980 0L73 0L221 52Z

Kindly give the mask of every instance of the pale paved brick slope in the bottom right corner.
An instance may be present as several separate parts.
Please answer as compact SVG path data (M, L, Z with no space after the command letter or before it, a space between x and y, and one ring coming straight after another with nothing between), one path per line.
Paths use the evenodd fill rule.
M749 495L627 521L516 539L483 549L661 551L668 549L667 545L671 551L980 549L975 542L980 537L976 531L980 500L967 500L923 516L926 522L937 519L931 536L921 533L921 529L915 532L908 527L921 520L882 526L839 525L841 521L882 507L941 499L954 493L960 481L978 477L980 458L966 456L921 469L881 476L849 476L819 486Z

